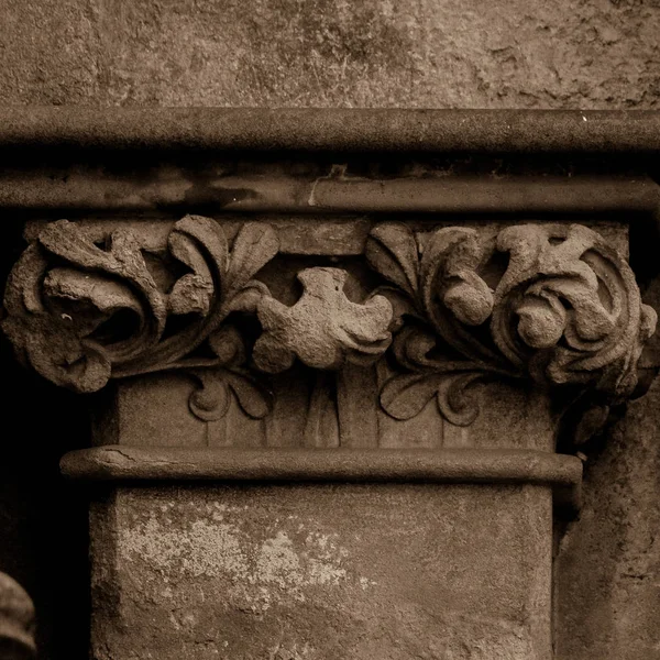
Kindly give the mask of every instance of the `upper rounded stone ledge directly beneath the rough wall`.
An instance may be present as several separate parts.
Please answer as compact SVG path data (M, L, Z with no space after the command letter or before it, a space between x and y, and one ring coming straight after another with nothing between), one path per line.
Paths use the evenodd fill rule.
M3 108L0 147L653 153L660 112Z

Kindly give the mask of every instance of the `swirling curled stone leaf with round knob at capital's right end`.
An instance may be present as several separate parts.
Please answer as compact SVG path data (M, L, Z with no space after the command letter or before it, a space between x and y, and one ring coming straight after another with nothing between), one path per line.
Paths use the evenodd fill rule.
M613 402L631 394L657 317L628 264L579 224L509 227L497 248L510 255L492 320L502 352L541 384L591 383Z

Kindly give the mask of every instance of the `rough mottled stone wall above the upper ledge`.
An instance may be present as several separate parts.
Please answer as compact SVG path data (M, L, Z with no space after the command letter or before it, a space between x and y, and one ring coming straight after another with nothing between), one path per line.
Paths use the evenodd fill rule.
M657 0L2 0L12 103L656 108Z

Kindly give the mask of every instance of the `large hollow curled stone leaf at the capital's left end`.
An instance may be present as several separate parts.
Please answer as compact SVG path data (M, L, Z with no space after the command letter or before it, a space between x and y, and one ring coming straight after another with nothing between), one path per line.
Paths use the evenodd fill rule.
M66 266L51 267L51 261ZM128 232L109 237L109 249L90 241L75 223L48 224L9 277L8 317L2 323L19 359L57 385L100 389L113 362L131 360L156 343L165 302ZM117 311L138 318L131 337L97 337Z

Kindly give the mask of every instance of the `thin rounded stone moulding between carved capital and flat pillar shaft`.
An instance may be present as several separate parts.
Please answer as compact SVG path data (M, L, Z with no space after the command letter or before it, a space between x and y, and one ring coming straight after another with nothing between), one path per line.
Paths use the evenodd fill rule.
M582 461L529 449L209 449L103 446L65 454L65 477L85 482L366 482L552 486L580 509Z

